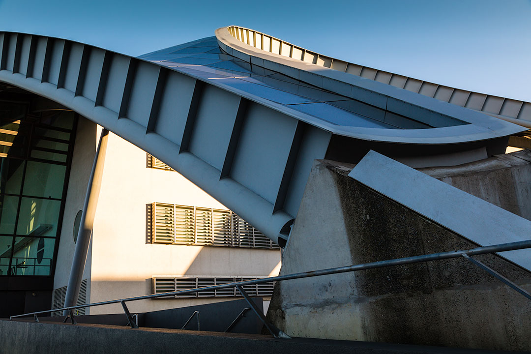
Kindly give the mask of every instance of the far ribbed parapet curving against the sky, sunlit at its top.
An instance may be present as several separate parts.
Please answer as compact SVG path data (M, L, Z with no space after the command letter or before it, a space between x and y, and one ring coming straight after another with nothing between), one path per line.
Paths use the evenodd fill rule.
M341 76L326 71L326 69L329 68L330 71L333 70L356 75L363 77L364 79L419 93L423 96L435 98L443 102L449 102L452 103L452 105L477 110L490 116L531 128L531 102L461 90L433 82L418 80L413 77L378 70L368 66L348 63L340 59L315 53L314 51L290 44L281 39L269 36L268 34L239 26L233 25L220 28L218 29L217 36L222 45L232 47L239 51L244 58L256 55L256 49L258 49L258 53L267 53L267 56L260 54L256 55L255 62L258 62L258 65L262 64L260 61L262 56L263 58L269 59L278 64L286 64L282 59L290 58L293 59L293 61L306 64L299 67L305 68L305 70L314 74L320 74L323 76L329 76L332 79L341 80ZM230 51L231 50L229 50L229 53ZM235 53L232 54L238 56ZM253 59L250 60L253 61ZM267 63L263 65L265 67L269 66ZM288 66L292 65L288 64ZM312 66L315 67L312 68ZM273 67L278 68L278 66L275 65L273 65ZM316 69L316 67L325 69L325 71L323 72L322 70ZM290 75L289 72L289 70L284 71L286 75ZM292 74L294 73L293 70L291 72ZM319 79L311 76L305 78L304 76L299 75L298 78L317 85L319 85L320 82ZM348 82L348 80L345 80L345 82Z

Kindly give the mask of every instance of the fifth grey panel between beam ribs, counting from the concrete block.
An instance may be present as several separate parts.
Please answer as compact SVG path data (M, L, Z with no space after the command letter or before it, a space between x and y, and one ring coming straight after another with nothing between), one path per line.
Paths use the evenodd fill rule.
M155 97L158 77L159 67L144 62L138 63L129 98L127 118L144 127L148 126L151 103L153 102L153 97Z

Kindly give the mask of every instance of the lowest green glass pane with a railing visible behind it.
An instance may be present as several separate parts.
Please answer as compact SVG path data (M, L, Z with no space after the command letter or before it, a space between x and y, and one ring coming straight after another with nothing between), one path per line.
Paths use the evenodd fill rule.
M49 275L52 269L55 239L16 237L13 247L12 275Z

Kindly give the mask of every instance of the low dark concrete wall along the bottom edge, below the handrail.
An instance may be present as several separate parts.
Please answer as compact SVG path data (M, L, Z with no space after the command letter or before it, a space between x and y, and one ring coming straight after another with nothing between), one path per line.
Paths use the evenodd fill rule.
M113 325L71 325L0 320L0 353L484 354L485 352L425 346L397 346L386 343L323 341L299 338L277 340L270 335L146 329L142 327L138 330L132 330L128 327ZM491 354L495 353L492 352Z

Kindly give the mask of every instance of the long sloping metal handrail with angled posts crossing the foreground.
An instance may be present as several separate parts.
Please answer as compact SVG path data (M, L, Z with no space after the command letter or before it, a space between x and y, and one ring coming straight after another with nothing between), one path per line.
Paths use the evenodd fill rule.
M517 241L517 242L511 242L511 243L504 243L504 244L498 244L498 245L491 245L491 246L481 246L481 247L475 247L470 249L461 249L459 251L448 251L448 252L440 252L440 253L432 253L432 254L425 254L425 255L419 255L419 256L412 256L412 257L404 257L404 258L395 258L392 260L386 260L386 261L378 261L378 262L370 262L370 263L362 263L362 264L355 264L355 265L347 265L342 267L335 267L335 268L328 268L328 269L321 269L321 270L315 270L315 271L309 271L309 272L301 272L301 273L293 273L293 274L286 274L286 275L278 275L276 277L268 277L268 278L261 278L261 279L253 279L253 280L245 280L245 281L237 281L234 283L227 283L227 284L219 284L219 285L213 285L208 287L202 287L202 288L195 288L195 289L186 289L186 290L178 290L178 291L169 291L164 293L158 293L158 294L152 294L152 295L144 295L144 296L136 296L136 297L130 297L130 298L123 298L123 299L117 299L117 300L109 300L109 301L101 301L99 303L92 303L92 304L86 304L86 305L76 305L76 306L68 306L58 309L50 309L45 311L36 311L36 312L30 312L27 314L22 315L14 315L10 316L10 319L16 317L25 317L25 316L33 316L33 315L39 315L39 314L46 314L50 312L55 311L61 311L61 310L68 310L72 315L72 310L76 308L87 308L87 307L94 307L94 306L102 306L102 305L109 305L109 304L117 304L121 303L124 307L125 313L130 317L130 314L128 314L128 311L126 309L125 303L127 301L136 301L136 300L145 300L145 299L155 299L159 297L165 297L169 295L185 295L188 293L194 293L198 291L204 291L204 290L216 290L216 289L224 289L224 288L233 288L238 287L238 290L242 292L242 295L247 300L246 293L243 291L243 286L245 285L251 285L251 284L261 284L271 281L282 281L282 280L290 280L290 279L301 279L301 278L310 278L310 277L319 277L320 275L329 275L329 274L337 274L337 273L346 273L346 272L354 272L359 270L366 270L366 269L375 269L375 268L382 268L382 267L389 267L389 266L395 266L395 265L402 265L402 264L413 264L413 263L421 263L421 262L430 262L430 261L436 261L436 260L447 260L449 258L460 258L460 257L471 257L475 255L481 255L481 254L488 254L488 253L498 253L498 252L506 252L506 251L515 251L517 249L524 249L524 248L531 248L531 239L525 240L525 241ZM466 258L466 257L465 257ZM467 258L468 259L468 258ZM478 265L477 263L481 264L481 268L490 270L489 267L484 265L483 263L474 260L474 264ZM479 266L479 265L478 265ZM489 271L489 273L492 274L492 272ZM504 283L508 284L512 288L513 285L516 286L516 284L509 284L506 280L503 280L502 278L497 277ZM521 289L520 287L516 286L518 288L518 291L525 295L528 298L531 298L531 295L524 289ZM247 300L249 303L249 300ZM254 304L249 303L251 307L253 307ZM74 319L71 318L72 322L74 322ZM263 321L263 319L261 318ZM130 321L131 322L131 321ZM271 326L270 324L267 324L268 328ZM131 324L132 327L135 327L133 324ZM281 331L280 331L281 332ZM273 332L272 332L273 333ZM277 334L273 333L277 337ZM280 337L285 335L281 332Z

